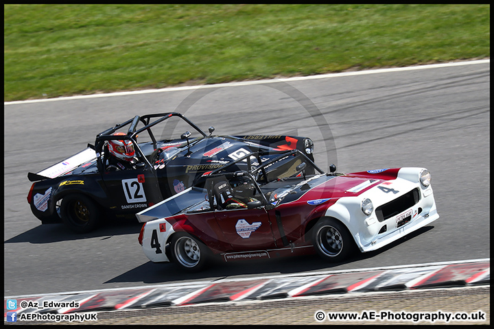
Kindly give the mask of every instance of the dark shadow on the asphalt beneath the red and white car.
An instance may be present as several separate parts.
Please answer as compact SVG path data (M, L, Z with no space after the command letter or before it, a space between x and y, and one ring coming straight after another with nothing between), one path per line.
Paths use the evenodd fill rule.
M120 276L110 279L104 283L144 282L148 284L162 284L166 282L186 280L220 280L221 278L240 275L254 276L261 274L266 275L266 273L277 275L278 273L292 274L306 271L327 271L331 270L333 267L339 267L340 265L373 258L389 249L392 249L393 247L396 247L397 245L400 245L401 243L405 243L406 241L413 239L415 236L419 236L429 230L432 230L432 228L434 228L434 226L425 226L420 228L419 230L408 234L408 236L404 236L403 238L398 239L397 241L373 252L356 252L351 258L341 263L325 262L316 254L308 256L271 258L266 260L239 260L230 263L223 263L221 260L217 260L203 271L197 273L187 273L182 271L180 267L173 263L156 264L148 261L147 263L131 269L126 273L122 273ZM379 267L379 264L376 264L375 267Z

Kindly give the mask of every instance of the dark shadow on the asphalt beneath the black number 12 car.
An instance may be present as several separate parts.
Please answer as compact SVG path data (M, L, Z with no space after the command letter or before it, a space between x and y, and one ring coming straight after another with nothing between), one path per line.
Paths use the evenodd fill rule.
M116 220L108 220L101 224L98 230L93 232L78 234L74 233L64 226L64 224L49 224L40 225L23 232L4 243L54 243L60 241L82 240L88 238L97 238L101 236L103 239L108 239L110 236L124 234L139 234L142 223L137 221L124 221L116 225ZM137 239L137 238L136 238Z

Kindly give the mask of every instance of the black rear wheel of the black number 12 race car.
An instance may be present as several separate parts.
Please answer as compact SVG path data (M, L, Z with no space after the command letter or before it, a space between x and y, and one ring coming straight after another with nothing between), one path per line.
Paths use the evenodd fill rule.
M67 195L60 205L62 221L76 233L94 230L99 223L99 207L82 194Z

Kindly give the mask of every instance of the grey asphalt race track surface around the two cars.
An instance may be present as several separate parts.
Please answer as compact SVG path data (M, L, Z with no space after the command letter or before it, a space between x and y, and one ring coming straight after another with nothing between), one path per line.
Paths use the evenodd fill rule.
M193 98L196 103L180 106L191 93L5 104L5 295L490 257L489 63L204 88L196 92L203 96ZM185 274L174 265L148 261L137 243L137 223L78 235L61 224L41 226L32 215L28 171L75 154L93 143L95 134L135 114L177 108L187 110L203 130L213 125L215 134L308 136L315 142L316 163L325 170L329 162L340 172L426 167L440 219L342 264L306 256Z

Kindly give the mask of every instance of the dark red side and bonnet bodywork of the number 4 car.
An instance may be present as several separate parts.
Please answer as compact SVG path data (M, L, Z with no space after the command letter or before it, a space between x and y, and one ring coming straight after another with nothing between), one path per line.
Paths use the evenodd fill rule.
M399 169L389 169L381 173L352 173L331 178L311 188L298 199L280 204L276 208L255 208L224 211L180 214L168 217L175 232L188 232L204 242L214 254L235 252L268 251L275 256L283 254L312 254L314 248L310 241L309 229L317 219L325 215L329 206L340 197L355 196L386 180L397 178ZM350 188L372 180L372 184L357 193ZM319 205L309 204L311 200L328 199ZM248 225L261 223L259 228L242 238L236 230L239 221ZM242 221L242 223L244 223ZM165 227L163 227L163 232ZM305 246L310 248L305 248ZM267 255L266 255L267 256Z

